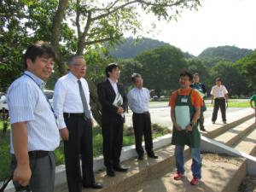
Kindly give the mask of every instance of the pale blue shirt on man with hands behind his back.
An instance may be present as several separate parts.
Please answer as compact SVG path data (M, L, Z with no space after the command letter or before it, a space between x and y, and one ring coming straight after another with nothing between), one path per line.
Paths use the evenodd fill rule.
M144 113L148 111L149 90L147 88L138 89L134 87L128 92L128 106L133 113Z

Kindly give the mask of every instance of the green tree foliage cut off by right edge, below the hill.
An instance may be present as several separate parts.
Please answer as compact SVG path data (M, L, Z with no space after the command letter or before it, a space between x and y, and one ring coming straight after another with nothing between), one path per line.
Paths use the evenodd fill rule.
M236 61L235 65L238 72L241 74L242 79L247 81L248 87L251 92L256 90L256 51L247 55L241 60Z

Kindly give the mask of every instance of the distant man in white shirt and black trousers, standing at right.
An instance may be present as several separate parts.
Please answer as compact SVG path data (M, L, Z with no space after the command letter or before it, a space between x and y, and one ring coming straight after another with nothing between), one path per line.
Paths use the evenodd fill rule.
M228 103L228 90L222 84L222 80L217 78L215 80L216 85L212 87L212 103L214 99L213 113L212 113L212 124L215 124L218 115L218 108L220 108L222 121L224 124L227 123L226 119L226 103Z

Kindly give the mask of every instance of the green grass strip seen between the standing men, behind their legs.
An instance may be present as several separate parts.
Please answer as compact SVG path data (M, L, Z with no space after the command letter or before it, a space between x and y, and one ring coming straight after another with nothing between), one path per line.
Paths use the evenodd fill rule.
M0 121L0 130L2 133L3 122ZM170 131L167 128L160 127L159 125L152 125L153 127L153 137L163 136ZM126 131L127 130L127 131ZM130 133L129 133L130 132ZM125 129L123 145L129 146L135 143L134 134L131 129ZM63 154L63 143L60 143L60 147L55 150L56 165L64 164L64 154ZM93 128L93 156L97 157L102 154L102 130L100 127ZM9 164L10 164L10 154L9 154L9 130L6 137L0 137L0 181L9 177Z

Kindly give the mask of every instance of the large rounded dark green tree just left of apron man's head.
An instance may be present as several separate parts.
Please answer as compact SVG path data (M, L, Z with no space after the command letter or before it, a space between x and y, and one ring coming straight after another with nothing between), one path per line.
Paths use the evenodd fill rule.
M173 46L164 46L143 52L135 58L143 65L144 84L160 96L161 90L175 90L179 73L187 64L183 52Z

